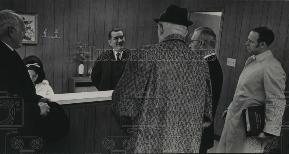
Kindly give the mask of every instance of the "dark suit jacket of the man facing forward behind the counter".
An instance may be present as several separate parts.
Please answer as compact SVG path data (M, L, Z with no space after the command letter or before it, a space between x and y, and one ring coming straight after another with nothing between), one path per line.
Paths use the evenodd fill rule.
M121 69L124 67L129 58L130 51L128 49L123 50L121 58ZM115 60L113 50L104 51L99 55L91 71L91 80L98 91L113 90L110 89L110 77L112 69L112 60Z

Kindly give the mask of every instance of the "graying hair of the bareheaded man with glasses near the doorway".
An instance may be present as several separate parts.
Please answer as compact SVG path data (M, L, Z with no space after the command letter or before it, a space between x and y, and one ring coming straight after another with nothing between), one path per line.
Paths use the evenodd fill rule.
M208 45L211 47L216 47L216 34L211 28L208 27L199 27L194 30L194 32L199 31L199 39L202 39L205 42L208 42Z

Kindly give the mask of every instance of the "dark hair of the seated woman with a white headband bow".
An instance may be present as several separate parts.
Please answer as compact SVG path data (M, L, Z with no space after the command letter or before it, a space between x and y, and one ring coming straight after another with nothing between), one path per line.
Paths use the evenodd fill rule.
M38 77L37 77L37 79L35 81L35 84L41 83L44 80L44 78L45 78L45 73L44 73L44 70L43 70L43 65L41 63L41 60L38 57L36 57L36 56L28 56L28 57L23 58L23 62L25 63L25 65L38 63L38 65L40 67L37 67L37 66L34 66L34 65L30 65L29 67L27 67L27 69L34 70L35 73L38 74Z

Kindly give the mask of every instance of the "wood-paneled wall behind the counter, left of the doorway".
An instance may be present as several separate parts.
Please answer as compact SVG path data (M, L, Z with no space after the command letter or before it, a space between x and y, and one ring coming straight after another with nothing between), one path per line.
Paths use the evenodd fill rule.
M108 32L113 28L123 30L126 48L158 43L156 23L169 4L180 1L42 1L0 0L0 10L38 14L38 43L23 44L17 49L21 58L36 55L42 60L46 80L54 93L68 93L68 78L78 76L77 42L87 43L96 49L110 49ZM50 36L58 29L60 39L42 38L44 29ZM86 49L88 52L88 49ZM94 52L94 59L97 53ZM77 55L79 59L79 55ZM73 61L71 61L73 60ZM84 61L84 76L94 61Z

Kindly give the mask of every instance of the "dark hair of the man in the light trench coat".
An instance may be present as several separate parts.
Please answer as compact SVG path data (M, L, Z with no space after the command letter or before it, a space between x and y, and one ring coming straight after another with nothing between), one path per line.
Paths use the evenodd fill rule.
M267 46L269 46L274 41L274 33L268 27L257 27L252 31L257 32L259 34L259 38L257 40L258 43L265 42Z

